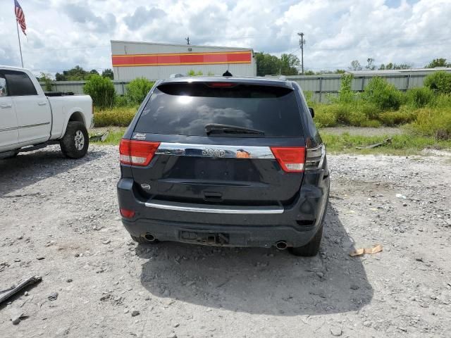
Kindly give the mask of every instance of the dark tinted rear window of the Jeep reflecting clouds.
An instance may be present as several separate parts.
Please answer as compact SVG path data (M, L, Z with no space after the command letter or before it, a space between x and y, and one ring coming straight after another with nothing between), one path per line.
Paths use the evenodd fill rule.
M206 136L209 124L264 132L264 137L302 137L295 92L290 88L224 82L168 83L157 87L135 132ZM221 87L219 87L221 86ZM237 134L214 134L230 137ZM259 137L239 134L240 137Z

